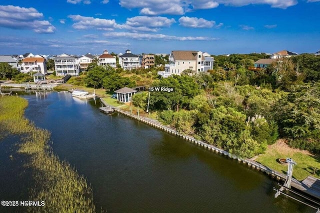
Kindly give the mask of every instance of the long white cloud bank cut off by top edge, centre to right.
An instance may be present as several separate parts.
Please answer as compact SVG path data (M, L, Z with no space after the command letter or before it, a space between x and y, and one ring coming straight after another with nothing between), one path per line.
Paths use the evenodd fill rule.
M308 2L319 0L308 0ZM182 15L195 9L215 8L219 4L226 6L244 6L248 4L268 4L271 7L287 8L297 4L297 0L119 0L122 7L139 8L140 14L176 14Z

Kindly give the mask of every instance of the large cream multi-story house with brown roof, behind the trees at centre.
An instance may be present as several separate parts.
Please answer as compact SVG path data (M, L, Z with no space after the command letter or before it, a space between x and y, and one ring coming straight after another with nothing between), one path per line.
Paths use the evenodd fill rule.
M171 74L180 75L185 69L207 71L213 68L213 61L213 57L204 56L201 51L173 50L169 55L169 63L164 66L164 71L159 71L158 74L168 77Z

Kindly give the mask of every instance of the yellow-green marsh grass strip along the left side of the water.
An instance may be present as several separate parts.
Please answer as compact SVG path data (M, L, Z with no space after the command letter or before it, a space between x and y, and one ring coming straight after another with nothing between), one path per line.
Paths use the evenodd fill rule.
M32 168L34 187L30 200L44 201L44 206L30 206L30 212L94 212L92 189L85 178L65 161L55 156L50 146L50 132L24 118L27 101L20 97L0 97L0 137L23 134L18 152L27 156L25 166ZM4 133L6 132L6 133Z

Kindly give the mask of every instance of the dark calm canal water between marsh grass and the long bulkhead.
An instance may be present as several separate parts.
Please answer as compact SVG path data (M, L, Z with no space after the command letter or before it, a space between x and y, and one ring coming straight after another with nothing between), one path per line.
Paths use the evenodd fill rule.
M105 115L99 102L67 92L24 97L25 116L51 131L54 153L87 179L98 211L315 212L275 199L276 182L262 173L128 117Z

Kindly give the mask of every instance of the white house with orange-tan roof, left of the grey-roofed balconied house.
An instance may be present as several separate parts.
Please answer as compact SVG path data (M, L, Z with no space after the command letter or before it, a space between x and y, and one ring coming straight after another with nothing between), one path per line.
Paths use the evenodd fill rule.
M46 74L46 60L43 57L25 57L22 59L21 72L40 72Z

